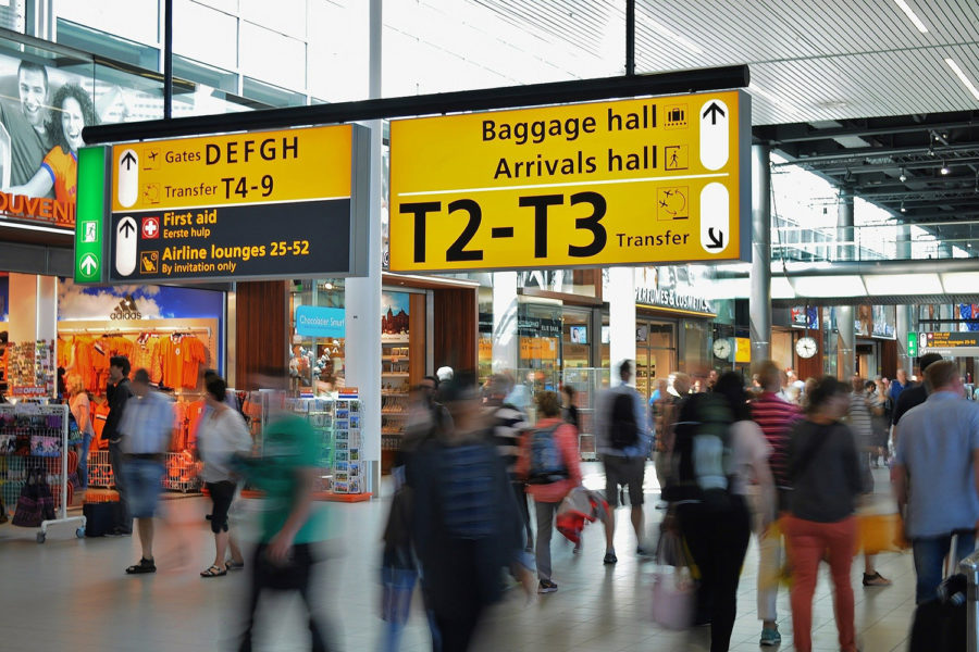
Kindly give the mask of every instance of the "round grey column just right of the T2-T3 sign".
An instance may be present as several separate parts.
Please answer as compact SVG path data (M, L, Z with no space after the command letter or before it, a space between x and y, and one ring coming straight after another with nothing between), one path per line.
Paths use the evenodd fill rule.
M752 362L771 358L771 167L768 145L752 146Z

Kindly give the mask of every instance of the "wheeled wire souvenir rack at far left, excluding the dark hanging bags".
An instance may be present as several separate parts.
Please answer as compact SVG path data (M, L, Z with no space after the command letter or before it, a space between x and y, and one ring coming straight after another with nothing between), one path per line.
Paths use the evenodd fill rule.
M28 477L39 476L51 490L54 517L40 523L38 543L45 542L48 527L54 524L77 524L75 536L85 536L85 516L67 515L67 405L0 405L0 491L4 504L16 516Z

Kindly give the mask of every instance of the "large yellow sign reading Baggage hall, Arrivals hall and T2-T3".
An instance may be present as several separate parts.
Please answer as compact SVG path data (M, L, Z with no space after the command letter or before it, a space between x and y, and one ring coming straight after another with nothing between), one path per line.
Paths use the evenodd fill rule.
M746 260L741 91L391 125L391 268Z

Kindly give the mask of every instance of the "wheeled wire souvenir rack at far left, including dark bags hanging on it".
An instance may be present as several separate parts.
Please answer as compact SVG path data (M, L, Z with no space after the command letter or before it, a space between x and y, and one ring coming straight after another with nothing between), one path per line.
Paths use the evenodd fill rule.
M0 492L15 506L15 525L39 528L38 543L53 524L77 524L75 535L85 536L85 517L67 516L69 446L67 405L0 405Z

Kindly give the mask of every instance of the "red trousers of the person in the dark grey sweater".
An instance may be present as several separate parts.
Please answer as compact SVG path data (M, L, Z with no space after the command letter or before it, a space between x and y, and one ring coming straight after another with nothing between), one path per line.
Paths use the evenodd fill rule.
M856 518L850 516L837 523L816 523L785 516L784 521L789 559L792 560L792 637L795 649L798 652L810 652L813 649L813 594L816 592L819 562L829 551L840 650L856 652L853 586L850 582L856 548Z

